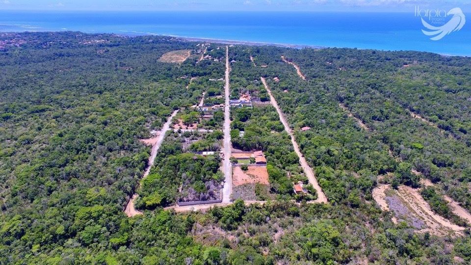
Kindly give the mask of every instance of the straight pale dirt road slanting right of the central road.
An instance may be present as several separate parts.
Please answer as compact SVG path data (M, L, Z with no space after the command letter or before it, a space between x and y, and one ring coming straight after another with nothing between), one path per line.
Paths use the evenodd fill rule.
M273 94L271 93L270 88L266 84L266 80L262 77L260 77L260 79L262 80L262 83L265 86L265 89L268 92L268 95L270 96L271 104L276 108L276 111L278 112L278 116L280 116L281 123L283 123L283 125L285 126L285 131L288 132L289 136L291 136L291 143L293 144L294 152L296 152L296 154L299 157L299 163L301 164L301 167L303 168L304 173L308 177L309 183L311 183L311 185L314 186L314 189L317 192L317 199L314 202L327 203L327 197L325 196L324 192L322 191L319 184L317 183L313 169L309 166L308 162L306 161L303 154L299 150L299 146L298 146L298 143L296 142L296 139L294 138L294 134L291 128L289 128L289 124L286 121L285 116L283 115L283 112L281 111L280 107L278 106L278 103L276 102L275 97L273 97Z

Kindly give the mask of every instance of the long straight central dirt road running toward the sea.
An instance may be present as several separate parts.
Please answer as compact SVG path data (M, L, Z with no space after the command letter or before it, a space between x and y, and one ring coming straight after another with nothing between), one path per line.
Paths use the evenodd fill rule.
M232 166L231 161L231 117L230 117L230 105L229 105L229 46L226 46L226 84L224 86L225 93L225 106L224 106L224 187L222 189L222 203L227 204L231 202L232 193Z

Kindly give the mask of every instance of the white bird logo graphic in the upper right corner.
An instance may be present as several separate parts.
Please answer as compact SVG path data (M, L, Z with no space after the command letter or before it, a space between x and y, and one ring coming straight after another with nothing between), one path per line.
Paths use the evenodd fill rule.
M450 11L448 11L448 13L446 13L446 16L451 16L451 15L453 15L453 17L447 23L445 23L445 25L440 26L440 27L432 26L428 24L427 22L425 22L423 18L421 18L423 27L426 27L427 29L430 30L430 31L427 31L427 30L422 29L423 34L427 36L434 36L434 37L431 37L430 39L434 41L438 41L438 40L441 40L446 35L450 34L451 32L458 31L463 26L465 26L466 17L465 17L465 14L463 14L463 11L461 11L461 8L459 7L452 8Z

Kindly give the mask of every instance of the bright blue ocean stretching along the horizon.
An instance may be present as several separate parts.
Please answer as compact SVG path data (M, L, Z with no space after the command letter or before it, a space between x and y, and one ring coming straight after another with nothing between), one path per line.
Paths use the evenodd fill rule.
M471 56L471 25L439 41L430 40L422 28L414 10L407 13L0 11L0 31L158 34Z

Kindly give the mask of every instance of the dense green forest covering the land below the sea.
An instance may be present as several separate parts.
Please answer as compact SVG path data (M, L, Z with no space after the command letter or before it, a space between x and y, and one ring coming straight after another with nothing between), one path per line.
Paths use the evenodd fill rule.
M199 61L199 43L164 36L0 35L12 38L25 42L0 51L0 264L471 263L469 229L419 233L372 198L378 176L410 186L427 178L435 187L422 196L432 210L470 225L442 197L471 211L470 58L230 47L231 97L249 92L266 102L260 77L267 79L329 203L297 204L289 195L177 213L163 207L182 198L180 185L203 194L223 179L217 155L191 154L220 150L221 133L169 132L140 188L150 147L139 139L203 92L221 103L208 97L222 93L225 45L211 44L211 59ZM183 49L193 54L181 64L158 61ZM181 112L188 121L193 114ZM231 118L234 146L262 149L274 168L272 192L290 194L287 172L303 176L274 108L232 109ZM222 120L220 112L204 126ZM183 145L187 138L195 141ZM128 218L136 191L146 211Z

